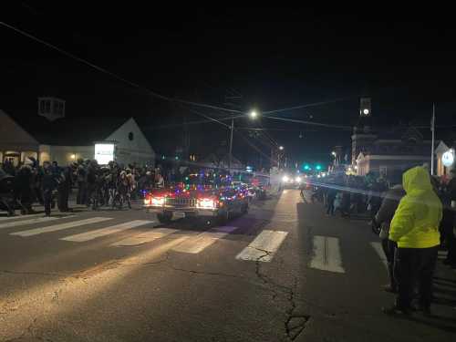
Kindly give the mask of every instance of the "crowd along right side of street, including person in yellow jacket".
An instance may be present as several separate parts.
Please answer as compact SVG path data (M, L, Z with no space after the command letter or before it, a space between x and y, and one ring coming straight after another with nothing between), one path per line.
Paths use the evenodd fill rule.
M438 249L448 250L443 264L456 268L456 173L447 181L415 167L397 181L343 175L313 187L313 198L325 203L326 214L364 212L370 217L389 265L384 289L397 294L384 312L407 316L421 310L430 315Z

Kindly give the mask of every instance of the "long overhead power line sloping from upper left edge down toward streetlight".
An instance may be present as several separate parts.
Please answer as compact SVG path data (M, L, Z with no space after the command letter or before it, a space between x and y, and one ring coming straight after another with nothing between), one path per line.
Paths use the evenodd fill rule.
M236 109L226 109L226 108L223 108L223 107L219 107L219 106L214 106L214 105L210 105L210 104L206 104L206 103L199 103L199 102L193 102L193 101L188 101L188 100L185 100L185 99L181 99L181 98L171 98L171 97L168 97L168 96L165 96L165 95L161 95L155 91L152 91L150 90L149 88L145 88L144 86L141 86L140 84L136 83L136 82L132 82L130 81L129 79L127 78L122 78L121 76L103 68L103 67L98 67L97 65L89 62L87 59L84 59L84 58L81 58L81 57L78 57L72 53L69 53L67 52L66 50L60 48L60 47L57 47L51 43L48 43L47 41L43 40L43 39L40 39L36 36L33 36L33 35L30 35L28 33L26 33L25 31L15 27L15 26L11 26L9 24L6 24L5 22L3 21L0 21L0 25L2 26L5 26L13 31L15 31L16 33L19 33L20 35L22 36L26 36L30 39L33 39L35 40L36 42L40 43L40 44L43 44L49 48L52 48L54 50L56 50L57 52L61 53L62 55L65 55L67 57L70 57L72 59L75 59L77 60L79 63L82 63L82 64L85 64L87 65L88 67L92 67L96 70L98 70L99 72L102 72L104 74L107 74L109 75L111 78L116 78L118 79L119 81L121 82L124 82L128 85L130 85L131 87L133 88L141 88L141 89L144 89L146 90L147 92L150 93L150 95L154 96L155 98L161 98L162 100L165 100L165 101L171 101L171 102L180 102L180 103L183 103L183 104L186 104L186 105L192 105L192 106L197 106L197 107L202 107L202 108L208 108L208 109L219 109L219 110L223 110L223 111L228 111L228 112L232 112L232 113L242 113L242 111L240 110L236 110Z

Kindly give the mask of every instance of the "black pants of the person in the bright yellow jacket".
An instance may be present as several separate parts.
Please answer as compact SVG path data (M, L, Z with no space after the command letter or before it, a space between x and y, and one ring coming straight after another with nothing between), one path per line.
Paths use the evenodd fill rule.
M418 283L420 305L430 307L432 275L437 261L438 246L430 248L398 248L394 276L399 286L396 306L409 309L413 287Z

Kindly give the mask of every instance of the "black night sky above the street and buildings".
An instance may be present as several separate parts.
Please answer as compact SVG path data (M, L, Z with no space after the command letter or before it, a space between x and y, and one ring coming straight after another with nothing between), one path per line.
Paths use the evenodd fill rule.
M225 96L236 95L244 111L329 101L277 116L351 126L359 97L368 96L383 128L429 124L435 101L443 126L438 134L456 123L456 29L444 9L75 4L19 1L1 20L171 98L226 107ZM202 119L194 110L227 116L154 98L3 26L0 41L0 109L13 117L36 115L36 98L56 95L67 100L69 117L134 116L152 147L171 154L183 143L183 120ZM171 124L177 126L163 127ZM235 125L260 127L247 119ZM261 125L298 161L326 161L334 145L350 141L349 130L272 119ZM201 155L228 140L219 124L189 127L190 150ZM243 161L259 158L246 141L270 154L264 135L242 130L235 133L234 155Z

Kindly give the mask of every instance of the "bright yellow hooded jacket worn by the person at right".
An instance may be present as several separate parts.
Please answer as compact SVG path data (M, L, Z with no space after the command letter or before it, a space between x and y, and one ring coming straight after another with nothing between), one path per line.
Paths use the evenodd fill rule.
M400 200L389 228L389 240L399 248L430 248L440 244L441 202L432 190L430 175L415 167L402 176L406 195Z

